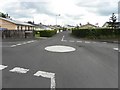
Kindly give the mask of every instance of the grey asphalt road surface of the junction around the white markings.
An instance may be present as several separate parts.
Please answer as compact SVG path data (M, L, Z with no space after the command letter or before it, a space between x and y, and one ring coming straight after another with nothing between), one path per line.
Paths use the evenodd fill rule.
M77 39L67 31L24 42L28 41L3 42L2 65L8 66L2 70L3 88L50 88L51 79L34 76L37 71L55 73L56 88L118 87L119 52L113 49L117 44ZM44 49L54 45L71 46L76 51L56 53ZM15 67L29 71L9 71Z

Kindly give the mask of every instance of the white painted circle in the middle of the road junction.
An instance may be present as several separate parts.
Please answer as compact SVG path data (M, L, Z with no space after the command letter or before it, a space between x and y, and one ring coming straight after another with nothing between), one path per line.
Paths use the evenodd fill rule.
M62 45L55 45L55 46L48 46L45 50L50 52L72 52L76 49L70 46L62 46Z

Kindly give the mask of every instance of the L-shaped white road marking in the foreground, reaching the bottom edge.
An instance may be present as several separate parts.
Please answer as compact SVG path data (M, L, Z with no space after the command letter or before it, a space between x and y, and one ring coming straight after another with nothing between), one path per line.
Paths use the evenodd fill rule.
M42 76L45 78L50 78L51 79L51 89L54 89L56 87L55 83L55 73L50 73L50 72L44 72L44 71L38 71L34 74L34 76Z

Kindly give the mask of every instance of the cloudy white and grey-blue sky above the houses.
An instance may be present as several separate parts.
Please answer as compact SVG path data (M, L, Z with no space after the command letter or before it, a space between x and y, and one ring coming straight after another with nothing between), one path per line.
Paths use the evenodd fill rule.
M112 13L118 15L119 0L0 0L0 12L13 19L47 25L98 23L102 26ZM60 16L59 16L60 14Z

